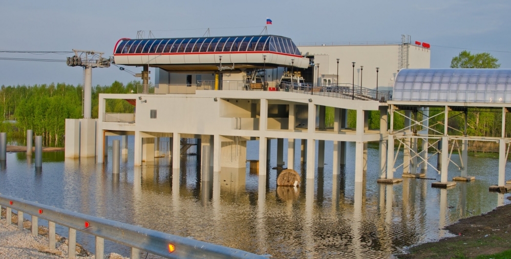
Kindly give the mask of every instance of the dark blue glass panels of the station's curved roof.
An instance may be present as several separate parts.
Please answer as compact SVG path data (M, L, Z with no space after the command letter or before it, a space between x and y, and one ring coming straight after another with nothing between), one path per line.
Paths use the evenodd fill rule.
M290 38L275 35L167 39L122 39L115 54L271 51L300 55Z

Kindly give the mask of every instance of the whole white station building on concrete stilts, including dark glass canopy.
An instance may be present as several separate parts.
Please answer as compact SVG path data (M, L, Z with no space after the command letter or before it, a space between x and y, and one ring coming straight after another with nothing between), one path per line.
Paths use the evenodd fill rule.
M141 67L143 85L133 94L100 94L97 120L68 119L66 157L96 156L103 163L108 136L134 135L134 164L140 166L155 160L158 138L166 137L172 138L172 166L178 169L181 139L193 138L199 140L198 155L210 152L201 161L213 172L245 174L246 141L259 140L259 174L266 175L269 140L277 139L278 164L292 169L300 159L306 163L306 177L314 178L316 162L318 167L333 162L333 174L339 174L339 165L347 163L346 142L352 141L356 182L367 168L368 141L383 145L385 175L388 90L396 73L430 67L429 48L404 40L297 47L275 35L123 38L113 57L118 65ZM158 68L154 85L148 81L149 67ZM293 82L285 81L291 74ZM125 99L136 113L110 113L107 99ZM330 128L325 125L327 106L335 111ZM348 128L348 110L356 111L356 128ZM380 111L380 130L369 130L369 111ZM122 140L127 152L127 138ZM334 142L334 161L324 161L325 141ZM302 149L301 158L294 157L295 148Z

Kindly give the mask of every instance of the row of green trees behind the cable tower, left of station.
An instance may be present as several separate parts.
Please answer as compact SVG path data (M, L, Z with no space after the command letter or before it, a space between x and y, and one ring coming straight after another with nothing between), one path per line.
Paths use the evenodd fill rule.
M139 81L124 85L115 81L111 85L92 88L92 117L98 118L100 93L131 93L136 91ZM82 85L66 83L34 85L2 85L0 87L0 131L9 139L26 137L27 130L43 137L48 146L63 145L65 119L83 118ZM132 113L133 106L124 100L107 100L107 112Z

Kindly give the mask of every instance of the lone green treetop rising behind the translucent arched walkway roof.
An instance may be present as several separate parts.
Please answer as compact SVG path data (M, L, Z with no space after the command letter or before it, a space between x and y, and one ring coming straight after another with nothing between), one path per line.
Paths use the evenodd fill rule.
M462 51L457 57L451 60L451 68L458 69L498 69L500 64L498 58L488 52L472 54L470 51Z

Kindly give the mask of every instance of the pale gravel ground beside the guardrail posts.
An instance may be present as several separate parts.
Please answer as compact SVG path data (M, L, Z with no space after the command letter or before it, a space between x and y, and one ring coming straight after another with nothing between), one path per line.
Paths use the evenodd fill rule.
M0 220L0 258L68 258L68 239L56 235L56 249L48 248L48 228L40 226L37 236L30 231L31 222L24 221L24 229L19 230L15 224L7 224L5 209ZM17 215L12 214L12 223L17 222ZM77 245L77 258L95 258L90 252ZM105 258L124 259L116 253L107 254Z

